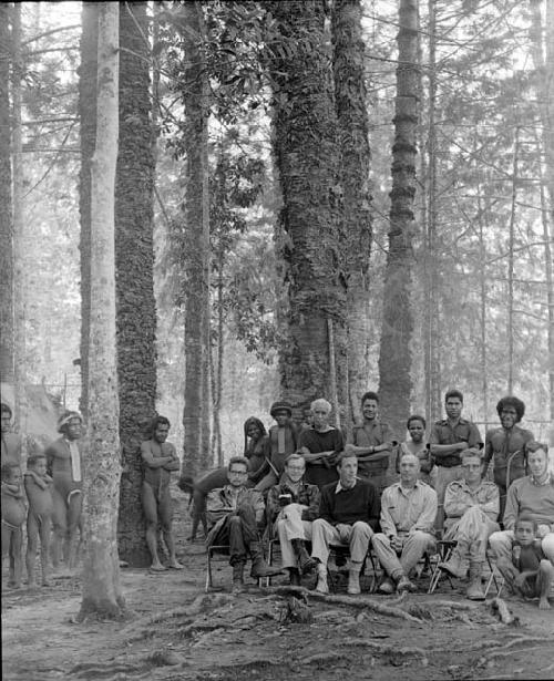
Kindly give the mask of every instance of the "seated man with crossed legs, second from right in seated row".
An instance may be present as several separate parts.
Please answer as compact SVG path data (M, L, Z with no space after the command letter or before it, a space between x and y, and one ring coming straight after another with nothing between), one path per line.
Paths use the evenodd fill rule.
M461 454L463 478L450 483L444 494L444 539L456 541L451 558L439 567L458 578L465 576L470 564L470 584L465 591L470 600L484 600L481 575L489 536L499 529L499 488L483 479L486 462L479 450Z

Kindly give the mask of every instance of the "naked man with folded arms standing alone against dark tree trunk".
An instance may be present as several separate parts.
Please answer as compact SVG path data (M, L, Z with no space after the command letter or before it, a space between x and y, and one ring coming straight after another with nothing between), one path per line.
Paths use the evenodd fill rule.
M157 525L162 526L165 545L170 554L170 567L182 570L183 566L175 556L172 520L173 504L170 493L171 472L179 470L175 447L165 442L170 433L170 421L165 416L155 416L152 422L152 437L141 444L144 465L142 484L142 504L146 516L146 544L152 556L151 569L165 570L157 555Z

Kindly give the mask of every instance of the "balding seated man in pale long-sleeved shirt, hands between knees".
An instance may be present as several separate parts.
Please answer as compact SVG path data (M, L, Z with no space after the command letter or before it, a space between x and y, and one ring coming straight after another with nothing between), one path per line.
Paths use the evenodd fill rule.
M387 487L381 497L381 532L371 539L387 577L379 592L414 591L410 572L423 554L434 546L433 523L437 492L419 479L416 454L400 460L400 482Z

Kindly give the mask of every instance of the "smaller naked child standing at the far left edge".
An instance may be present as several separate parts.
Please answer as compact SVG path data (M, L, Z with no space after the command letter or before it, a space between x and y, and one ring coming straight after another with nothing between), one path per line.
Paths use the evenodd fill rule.
M10 577L8 586L21 588L23 567L23 523L27 508L21 488L21 468L18 464L4 464L1 468L2 488L2 565L10 558Z

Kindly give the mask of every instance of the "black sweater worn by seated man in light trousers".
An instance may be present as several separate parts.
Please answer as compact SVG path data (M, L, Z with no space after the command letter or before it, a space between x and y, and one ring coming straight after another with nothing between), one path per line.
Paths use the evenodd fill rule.
M353 525L358 520L372 529L379 524L379 495L371 483L358 479L353 487L330 483L321 489L319 517L331 525Z

